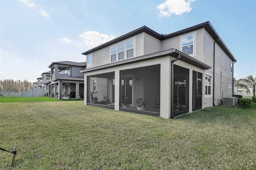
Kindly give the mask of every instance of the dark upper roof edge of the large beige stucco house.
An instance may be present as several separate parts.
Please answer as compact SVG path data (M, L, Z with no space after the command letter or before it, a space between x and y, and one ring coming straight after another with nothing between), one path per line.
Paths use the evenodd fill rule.
M132 32L129 32L127 34L124 34L123 36L120 36L118 38L115 38L114 40L111 40L109 42L106 42L102 45L99 45L98 47L92 48L88 51L85 51L84 53L82 53L83 55L87 55L89 53L92 53L98 49L101 49L103 47L106 47L108 45L112 45L114 43L117 43L119 41L125 40L129 37L135 36L136 34L139 34L141 32L146 32L147 34L150 34L151 36L157 38L158 40L165 40L174 36L179 36L182 34L186 34L188 32L192 32L194 30L198 30L200 28L204 28L211 36L212 38L216 41L216 43L218 43L218 45L220 45L220 47L223 49L223 51L228 55L228 57L232 60L232 61L237 61L236 58L234 57L234 55L231 53L231 51L228 49L228 47L226 46L226 44L222 41L222 39L220 38L220 36L218 35L218 33L216 32L216 30L213 28L212 24L207 21L204 22L202 24L198 24L196 26L192 26L189 28L186 28L184 30L180 30L178 32L174 32L172 34L168 34L168 35L162 35L162 34L158 34L157 32L155 32L154 30L151 30L150 28L146 27L146 26L142 26Z

